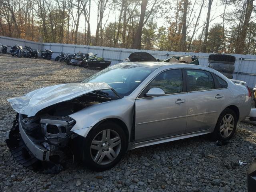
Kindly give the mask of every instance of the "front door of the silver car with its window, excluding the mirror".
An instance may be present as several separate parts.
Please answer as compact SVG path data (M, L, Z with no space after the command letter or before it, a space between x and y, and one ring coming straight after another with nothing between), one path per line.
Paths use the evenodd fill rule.
M144 88L135 101L135 142L183 134L188 114L188 94L182 69L166 70ZM164 96L146 96L150 88L164 90Z

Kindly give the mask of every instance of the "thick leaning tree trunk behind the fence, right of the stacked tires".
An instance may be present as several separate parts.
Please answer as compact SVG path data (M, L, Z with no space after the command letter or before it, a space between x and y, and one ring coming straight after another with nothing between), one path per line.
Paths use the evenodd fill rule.
M253 1L254 0L248 0L247 6L246 6L246 13L244 16L244 22L242 24L242 30L239 32L239 40L238 44L236 45L236 54L243 54L244 53L244 44L245 44L245 38L246 38L246 32L249 26L249 22L252 15L252 9L253 9Z

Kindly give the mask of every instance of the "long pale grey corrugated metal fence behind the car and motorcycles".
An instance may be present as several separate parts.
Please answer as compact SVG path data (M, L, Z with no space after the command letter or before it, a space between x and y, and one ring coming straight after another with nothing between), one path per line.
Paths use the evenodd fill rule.
M171 56L193 56L198 58L200 65L208 66L209 53L194 53L194 52L174 52L174 51L154 51L154 50L136 50L136 49L124 49L124 48L110 48L100 46L88 46L88 45L74 45L74 44L58 44L58 43L40 43L27 41L24 39L16 39L10 37L0 36L0 44L8 45L8 50L14 44L20 44L21 46L30 46L33 49L40 51L50 49L54 53L52 58L55 58L60 52L66 53L82 53L93 52L98 54L99 57L104 57L106 60L112 61L111 64L117 64L122 62L132 52L148 52L154 57L160 60L170 58ZM242 80L247 82L250 88L254 88L256 83L256 55L241 55L233 54L236 57L235 72L233 75L234 79Z

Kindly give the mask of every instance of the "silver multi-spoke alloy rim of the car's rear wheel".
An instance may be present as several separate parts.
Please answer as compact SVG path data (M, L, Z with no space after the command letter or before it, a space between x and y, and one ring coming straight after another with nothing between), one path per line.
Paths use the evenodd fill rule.
M226 114L220 122L220 134L222 137L227 138L230 136L234 129L234 117L231 114Z

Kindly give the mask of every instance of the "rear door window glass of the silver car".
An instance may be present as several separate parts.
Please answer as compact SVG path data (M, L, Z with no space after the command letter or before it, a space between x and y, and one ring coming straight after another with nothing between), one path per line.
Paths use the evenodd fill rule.
M188 91L203 91L214 89L214 80L208 71L186 69Z

